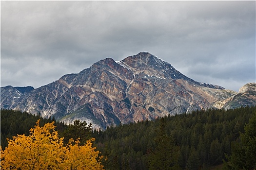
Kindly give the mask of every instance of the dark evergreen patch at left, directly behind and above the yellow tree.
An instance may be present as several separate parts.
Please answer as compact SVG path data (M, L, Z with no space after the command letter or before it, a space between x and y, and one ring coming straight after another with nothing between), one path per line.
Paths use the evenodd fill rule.
M64 137L63 142L67 144L70 138L80 138L80 144L86 143L86 140L92 137L92 124L87 124L85 121L81 122L75 120L73 124L65 124L63 122L56 121L55 118L49 117L48 119L42 118L40 114L32 115L27 112L21 112L17 110L1 110L1 146L4 150L7 146L6 138L12 139L12 136L29 135L29 130L34 128L36 121L40 119L40 126L45 123L55 122L54 125L59 133L59 137Z

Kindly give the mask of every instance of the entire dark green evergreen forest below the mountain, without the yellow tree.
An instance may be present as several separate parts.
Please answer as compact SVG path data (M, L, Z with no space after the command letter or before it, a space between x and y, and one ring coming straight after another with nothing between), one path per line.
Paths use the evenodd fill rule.
M110 126L105 131L76 120L72 125L42 119L40 115L1 110L1 146L6 137L28 135L40 125L55 121L60 137L79 138L104 158L104 170L208 170L223 164L226 170L256 169L256 107L209 109Z

